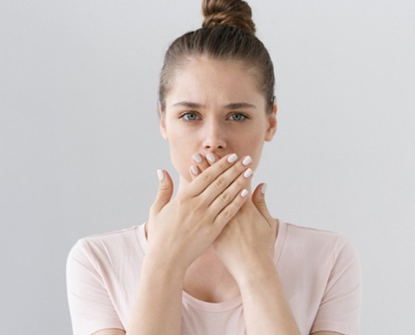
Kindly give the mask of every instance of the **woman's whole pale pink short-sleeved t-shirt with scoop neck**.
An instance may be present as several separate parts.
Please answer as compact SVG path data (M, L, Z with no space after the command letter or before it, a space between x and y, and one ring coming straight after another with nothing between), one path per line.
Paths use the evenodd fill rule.
M144 225L77 241L66 265L73 334L126 329L146 249ZM279 220L274 262L301 334L359 333L360 261L347 238ZM246 334L241 297L206 303L183 291L182 334Z

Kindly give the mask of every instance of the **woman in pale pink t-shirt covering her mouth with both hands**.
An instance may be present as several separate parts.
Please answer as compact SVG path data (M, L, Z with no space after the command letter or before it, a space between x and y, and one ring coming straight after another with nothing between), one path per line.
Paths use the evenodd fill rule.
M277 128L273 64L244 1L205 0L160 76L167 171L149 220L68 257L75 334L358 334L360 265L338 234L270 216L252 192ZM252 195L251 195L252 193Z

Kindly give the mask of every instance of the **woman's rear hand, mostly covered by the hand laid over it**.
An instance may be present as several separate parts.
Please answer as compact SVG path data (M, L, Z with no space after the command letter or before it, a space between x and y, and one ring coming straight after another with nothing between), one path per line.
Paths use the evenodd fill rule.
M208 156L213 157L212 154ZM203 173L210 164L216 163L202 157L202 162L197 164L198 171ZM252 200L246 200L213 243L217 256L238 283L246 280L249 274L261 272L266 276L268 270L270 274L275 271L273 256L278 224L266 207L265 187L266 184L257 186Z

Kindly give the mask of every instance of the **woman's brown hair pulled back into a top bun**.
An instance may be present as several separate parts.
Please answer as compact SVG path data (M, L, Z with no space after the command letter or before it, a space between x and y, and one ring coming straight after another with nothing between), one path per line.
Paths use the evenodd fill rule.
M165 113L165 97L178 68L194 57L241 61L255 70L259 89L266 98L266 111L274 104L274 67L268 50L255 37L252 11L241 0L203 0L202 28L187 32L169 46L160 74L158 101Z

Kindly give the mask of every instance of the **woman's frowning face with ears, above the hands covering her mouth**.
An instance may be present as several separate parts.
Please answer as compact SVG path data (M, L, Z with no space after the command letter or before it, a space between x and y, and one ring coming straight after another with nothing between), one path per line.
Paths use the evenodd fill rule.
M250 155L259 164L264 141L277 128L277 107L266 114L266 99L255 77L237 61L192 59L178 70L166 96L160 132L169 142L181 184L190 182L192 155Z

